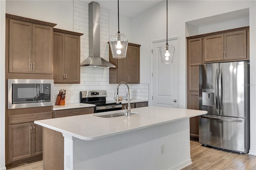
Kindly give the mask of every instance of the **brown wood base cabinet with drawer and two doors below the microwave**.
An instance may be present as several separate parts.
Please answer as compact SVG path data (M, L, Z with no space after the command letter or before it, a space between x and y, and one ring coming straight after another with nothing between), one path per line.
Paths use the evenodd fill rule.
M43 127L34 124L42 119L52 119L52 107L7 110L6 167L42 159Z

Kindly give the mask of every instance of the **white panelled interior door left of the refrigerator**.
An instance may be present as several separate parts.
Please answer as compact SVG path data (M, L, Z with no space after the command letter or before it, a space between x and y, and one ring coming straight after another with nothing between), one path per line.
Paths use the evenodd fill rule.
M175 47L170 64L161 61L159 47L165 44L166 41L152 43L152 103L154 106L178 108L178 38L168 40L168 44Z

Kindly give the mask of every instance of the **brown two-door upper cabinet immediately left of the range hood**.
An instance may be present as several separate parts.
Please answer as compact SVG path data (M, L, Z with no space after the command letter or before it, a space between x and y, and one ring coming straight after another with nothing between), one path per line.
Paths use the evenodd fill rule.
M54 83L80 83L80 36L82 35L54 28Z

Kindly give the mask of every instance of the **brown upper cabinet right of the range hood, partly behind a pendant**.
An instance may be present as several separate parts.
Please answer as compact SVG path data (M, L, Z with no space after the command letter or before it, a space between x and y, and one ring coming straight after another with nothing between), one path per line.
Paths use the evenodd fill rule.
M116 65L116 68L109 69L110 84L121 81L140 83L140 45L128 43L126 57L122 59L114 59L109 49L109 61Z

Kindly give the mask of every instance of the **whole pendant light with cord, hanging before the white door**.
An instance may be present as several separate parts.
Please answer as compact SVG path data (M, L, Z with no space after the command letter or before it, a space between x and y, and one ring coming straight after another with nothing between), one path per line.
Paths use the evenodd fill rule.
M167 39L167 32L168 32L168 5L167 5L168 0L166 0L166 45L162 45L159 48L160 51L160 56L162 59L162 63L165 64L170 64L172 63L173 56L174 56L174 46L168 44L168 39Z

